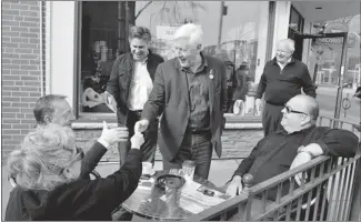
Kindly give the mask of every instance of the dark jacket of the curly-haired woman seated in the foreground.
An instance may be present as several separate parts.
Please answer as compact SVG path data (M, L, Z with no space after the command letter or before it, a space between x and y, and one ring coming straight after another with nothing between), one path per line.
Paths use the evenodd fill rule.
M6 221L110 221L111 212L138 186L142 153L132 149L114 173L103 179L86 179L106 152L97 142L82 161L80 179L52 191L17 185L10 193Z

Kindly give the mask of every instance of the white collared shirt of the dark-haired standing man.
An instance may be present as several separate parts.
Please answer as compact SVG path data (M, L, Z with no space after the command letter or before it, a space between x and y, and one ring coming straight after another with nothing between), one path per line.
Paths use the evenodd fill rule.
M144 62L134 61L133 78L130 82L128 108L129 110L142 110L153 88L152 79Z

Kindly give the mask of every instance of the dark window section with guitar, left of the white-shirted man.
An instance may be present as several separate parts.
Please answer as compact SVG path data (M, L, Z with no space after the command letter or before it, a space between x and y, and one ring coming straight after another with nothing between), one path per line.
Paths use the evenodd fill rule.
M118 52L118 2L81 2L81 112L111 112L104 91Z

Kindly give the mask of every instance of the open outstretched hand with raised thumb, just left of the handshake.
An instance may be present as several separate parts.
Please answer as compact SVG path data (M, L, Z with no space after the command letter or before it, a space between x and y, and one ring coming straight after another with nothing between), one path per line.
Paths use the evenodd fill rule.
M129 133L127 128L108 129L107 122L103 121L103 131L98 141L109 149L110 145L117 142L128 141L128 137Z

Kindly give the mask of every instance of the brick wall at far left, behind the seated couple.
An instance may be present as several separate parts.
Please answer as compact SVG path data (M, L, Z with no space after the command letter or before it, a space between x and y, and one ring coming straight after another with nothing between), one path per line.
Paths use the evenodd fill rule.
M40 1L2 1L2 158L34 125L41 95Z

